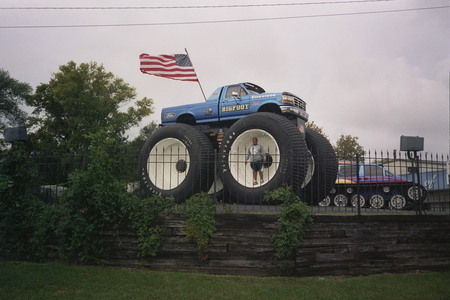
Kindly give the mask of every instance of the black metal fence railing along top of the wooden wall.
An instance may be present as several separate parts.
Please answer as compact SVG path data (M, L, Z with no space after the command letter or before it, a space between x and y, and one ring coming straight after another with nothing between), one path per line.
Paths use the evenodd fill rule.
M273 155L270 163L263 166L262 182L259 173L255 182L253 170L245 163L245 158L233 158L227 166L231 176L224 182L220 174L223 163L217 154L207 158L171 155L149 158L144 163L136 153L114 153L114 157L111 166L114 174L130 192L140 197L179 192L178 202L183 202L183 198L192 192L205 191L222 204L219 207L224 211L278 209L279 203L264 199L263 192L274 187L271 181L280 170L283 157ZM339 161L336 181L330 185L329 178L324 178L328 174L320 172L329 168L329 165L322 165L327 162L309 160L305 165L307 173L314 170L320 176L306 176L307 184L294 192L312 207L314 213L450 213L448 156L424 153L417 161L418 164L403 152L368 151L364 157ZM85 170L89 163L89 155L51 153L32 155L29 167L39 174L39 193L51 201L67 188L69 174ZM292 173L298 168L283 168L277 182L289 183L292 177L298 179L298 174ZM230 182L233 179L235 182ZM180 192L183 183L186 187ZM242 193L234 190L239 184L243 186ZM257 196L252 190L258 191Z

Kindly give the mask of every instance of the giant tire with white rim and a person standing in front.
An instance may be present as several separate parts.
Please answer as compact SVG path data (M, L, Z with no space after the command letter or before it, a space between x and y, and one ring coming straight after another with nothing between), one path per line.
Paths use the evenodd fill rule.
M246 164L252 138L271 157L263 170L264 183L253 185ZM224 188L240 203L262 203L265 191L288 184L296 191L305 178L306 142L292 121L275 113L255 113L240 119L225 133L219 149L220 176ZM259 181L259 175L258 175Z

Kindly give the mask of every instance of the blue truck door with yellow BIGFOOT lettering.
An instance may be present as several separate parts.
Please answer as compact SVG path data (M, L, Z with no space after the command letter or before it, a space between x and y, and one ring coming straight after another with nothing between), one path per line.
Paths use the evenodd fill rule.
M222 93L220 107L222 120L236 119L250 113L250 94L244 87L239 84L230 85Z

